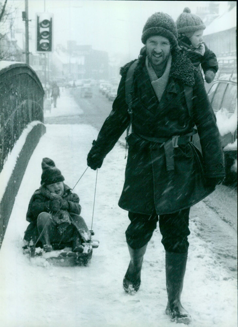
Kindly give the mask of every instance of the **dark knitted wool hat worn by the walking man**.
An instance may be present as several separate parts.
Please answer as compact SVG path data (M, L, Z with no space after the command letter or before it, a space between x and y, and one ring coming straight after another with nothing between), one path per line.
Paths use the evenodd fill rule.
M172 47L178 45L178 31L172 17L163 12L156 12L147 19L144 25L141 41L143 44L150 36L159 35L167 38Z

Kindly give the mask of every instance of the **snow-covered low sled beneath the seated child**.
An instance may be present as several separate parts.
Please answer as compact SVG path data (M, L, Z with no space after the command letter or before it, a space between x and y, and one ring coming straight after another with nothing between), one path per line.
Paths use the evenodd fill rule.
M91 235L94 235L93 231L90 231ZM65 247L60 250L53 250L46 252L44 249L34 245L24 246L23 254L29 256L30 261L36 264L46 266L46 262L49 265L60 266L60 267L72 267L72 266L87 266L92 258L93 249L98 248L99 241L91 240L84 242L80 245L80 252L73 252L71 247Z

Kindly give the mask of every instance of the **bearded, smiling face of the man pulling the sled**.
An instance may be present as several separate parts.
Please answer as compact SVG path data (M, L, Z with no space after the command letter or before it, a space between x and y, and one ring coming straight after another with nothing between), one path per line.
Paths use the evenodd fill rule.
M167 38L159 35L151 36L146 40L145 46L152 66L158 67L168 60L171 45Z

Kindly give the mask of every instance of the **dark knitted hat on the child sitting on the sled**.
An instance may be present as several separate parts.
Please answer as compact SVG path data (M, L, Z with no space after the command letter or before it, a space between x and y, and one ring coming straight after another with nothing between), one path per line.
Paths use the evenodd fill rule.
M56 168L53 160L49 158L43 158L41 166L41 185L49 185L64 181L64 177L61 175L60 170Z

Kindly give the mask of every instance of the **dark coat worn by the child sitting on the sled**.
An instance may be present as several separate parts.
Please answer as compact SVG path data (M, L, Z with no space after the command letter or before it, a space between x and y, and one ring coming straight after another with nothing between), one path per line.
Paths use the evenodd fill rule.
M24 240L26 242L30 242L32 240L32 242L35 244L37 239L39 238L39 232L37 228L37 217L42 212L50 212L49 203L51 199L48 194L49 192L47 192L44 187L40 187L34 192L30 199L28 210L26 213L26 220L30 222L30 224L27 226L24 235ZM77 216L79 216L81 212L79 197L77 196L77 194L71 193L70 187L64 184L64 193L62 195L62 198L68 201L68 213L72 218L72 223L75 225L76 228L80 228L80 226L77 226ZM40 240L37 243L37 246L41 246Z

